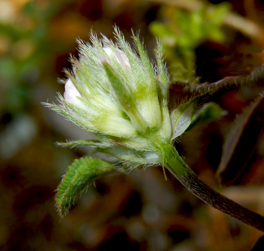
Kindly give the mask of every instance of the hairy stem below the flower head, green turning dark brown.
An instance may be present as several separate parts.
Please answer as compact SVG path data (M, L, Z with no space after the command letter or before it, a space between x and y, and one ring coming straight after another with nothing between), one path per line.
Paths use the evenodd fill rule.
M264 232L264 217L216 192L185 164L172 145L165 146L166 168L194 195L222 213Z

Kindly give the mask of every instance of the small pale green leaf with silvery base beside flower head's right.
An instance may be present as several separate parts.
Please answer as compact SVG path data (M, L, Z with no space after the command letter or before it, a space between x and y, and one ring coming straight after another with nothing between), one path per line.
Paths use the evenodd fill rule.
M197 107L197 99L179 105L170 115L172 135L171 140L177 138L185 132L191 124L192 116Z

